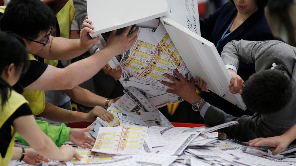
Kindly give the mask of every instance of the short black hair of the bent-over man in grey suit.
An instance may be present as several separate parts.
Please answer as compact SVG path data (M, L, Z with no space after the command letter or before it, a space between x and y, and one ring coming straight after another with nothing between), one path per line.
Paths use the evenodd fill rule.
M250 111L277 112L291 100L292 83L280 70L262 70L245 82L241 96Z

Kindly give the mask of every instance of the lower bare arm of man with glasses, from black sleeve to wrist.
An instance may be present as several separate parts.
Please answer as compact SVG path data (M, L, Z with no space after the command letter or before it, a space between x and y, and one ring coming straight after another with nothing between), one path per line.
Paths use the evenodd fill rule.
M104 48L90 57L70 64L64 69L48 66L45 72L25 89L65 90L89 80L116 54ZM63 81L61 81L63 80ZM59 83L57 83L59 82Z

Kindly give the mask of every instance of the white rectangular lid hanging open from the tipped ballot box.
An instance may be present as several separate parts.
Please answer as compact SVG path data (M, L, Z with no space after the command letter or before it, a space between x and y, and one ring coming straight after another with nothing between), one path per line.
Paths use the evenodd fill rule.
M245 110L239 94L229 91L230 75L214 44L189 31L167 17L160 18L167 33L177 47L191 75L207 83L207 88L229 102Z

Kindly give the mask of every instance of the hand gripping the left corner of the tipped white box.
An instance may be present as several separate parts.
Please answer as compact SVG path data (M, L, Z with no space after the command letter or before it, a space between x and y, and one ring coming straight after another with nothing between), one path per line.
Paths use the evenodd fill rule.
M87 50L91 49L99 40L100 37L91 38L89 33L95 33L93 29L95 28L87 16L86 20L83 21L82 28L80 31L80 47L85 48Z

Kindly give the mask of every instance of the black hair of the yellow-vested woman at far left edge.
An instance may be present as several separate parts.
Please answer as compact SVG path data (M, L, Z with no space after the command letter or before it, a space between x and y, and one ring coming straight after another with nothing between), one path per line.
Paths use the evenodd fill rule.
M12 33L0 32L0 75L10 65L22 67L25 71L29 67L28 52L22 38ZM11 86L0 76L1 106L8 99L8 90Z

